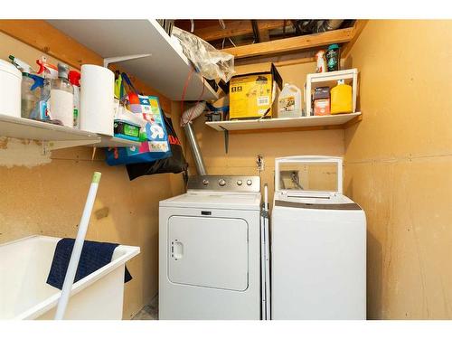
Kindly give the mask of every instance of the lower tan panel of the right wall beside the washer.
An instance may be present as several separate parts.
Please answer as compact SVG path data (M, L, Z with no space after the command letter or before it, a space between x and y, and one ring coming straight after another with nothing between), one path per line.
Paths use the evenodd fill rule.
M368 221L369 318L452 317L450 173L452 157L346 165Z

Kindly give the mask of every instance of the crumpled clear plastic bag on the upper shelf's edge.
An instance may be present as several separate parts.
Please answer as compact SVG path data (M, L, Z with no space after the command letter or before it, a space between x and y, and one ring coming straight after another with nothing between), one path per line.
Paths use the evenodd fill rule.
M234 73L234 56L221 52L200 37L173 27L173 35L179 40L186 57L192 61L196 71L210 80L228 82Z

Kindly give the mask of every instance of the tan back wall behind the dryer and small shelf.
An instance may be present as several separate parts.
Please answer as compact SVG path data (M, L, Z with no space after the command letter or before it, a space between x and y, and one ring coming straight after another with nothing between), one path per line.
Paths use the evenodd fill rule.
M269 69L269 63L237 66L238 73ZM315 71L315 63L280 66L278 71L284 82L290 82L303 89L306 74ZM216 104L221 106L221 103ZM229 153L224 152L224 135L204 124L204 118L194 121L205 165L209 174L258 175L256 156L263 155L265 170L260 174L261 183L268 183L268 196L274 190L275 157L289 155L344 155L344 131L341 129L323 131L283 131L276 133L231 134ZM194 164L188 155L191 173ZM193 172L194 171L194 172Z

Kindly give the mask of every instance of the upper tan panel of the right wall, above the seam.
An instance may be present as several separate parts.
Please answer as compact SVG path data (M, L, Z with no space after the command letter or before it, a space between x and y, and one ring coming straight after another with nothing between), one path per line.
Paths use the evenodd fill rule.
M348 159L450 154L452 21L372 20L352 51L363 122Z

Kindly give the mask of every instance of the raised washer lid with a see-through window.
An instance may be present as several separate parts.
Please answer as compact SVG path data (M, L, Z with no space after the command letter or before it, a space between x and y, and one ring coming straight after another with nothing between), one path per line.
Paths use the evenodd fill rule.
M297 155L275 159L275 192L320 198L342 194L342 157Z

